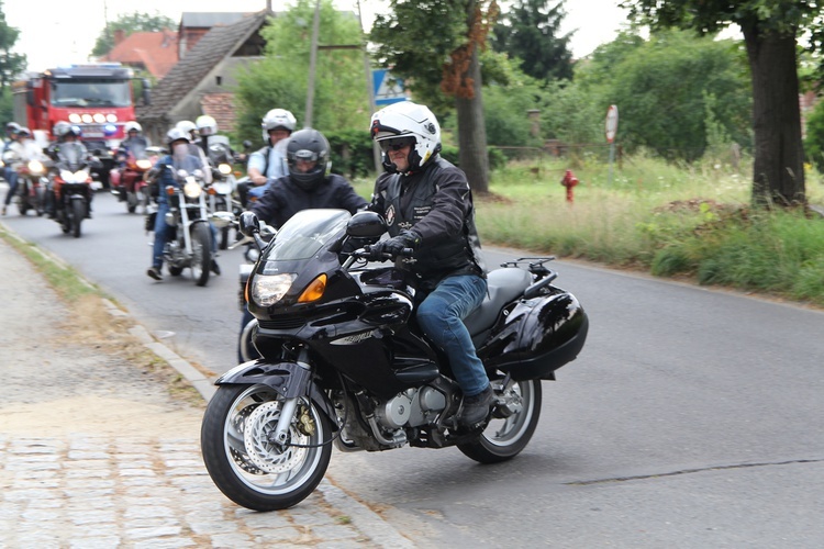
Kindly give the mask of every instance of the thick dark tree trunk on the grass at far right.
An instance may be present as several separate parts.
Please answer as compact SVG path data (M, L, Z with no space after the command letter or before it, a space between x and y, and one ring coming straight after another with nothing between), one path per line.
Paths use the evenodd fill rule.
M753 203L805 203L795 32L764 33L742 24L753 72Z

